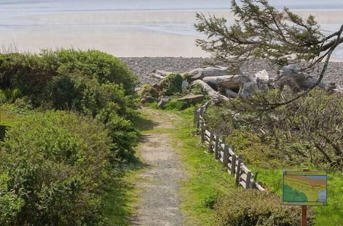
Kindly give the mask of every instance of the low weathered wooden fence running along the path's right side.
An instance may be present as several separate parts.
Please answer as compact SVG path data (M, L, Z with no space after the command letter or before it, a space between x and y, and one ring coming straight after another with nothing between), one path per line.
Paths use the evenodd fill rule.
M217 136L211 129L206 129L204 112L206 104L194 110L194 126L200 130L201 142L209 145L208 153L214 153L215 160L220 161L224 167L228 168L228 173L235 177L236 185L243 188L255 188L261 191L265 189L257 181L257 172L253 174L243 163L241 155L235 154L235 147L227 145L225 137Z

